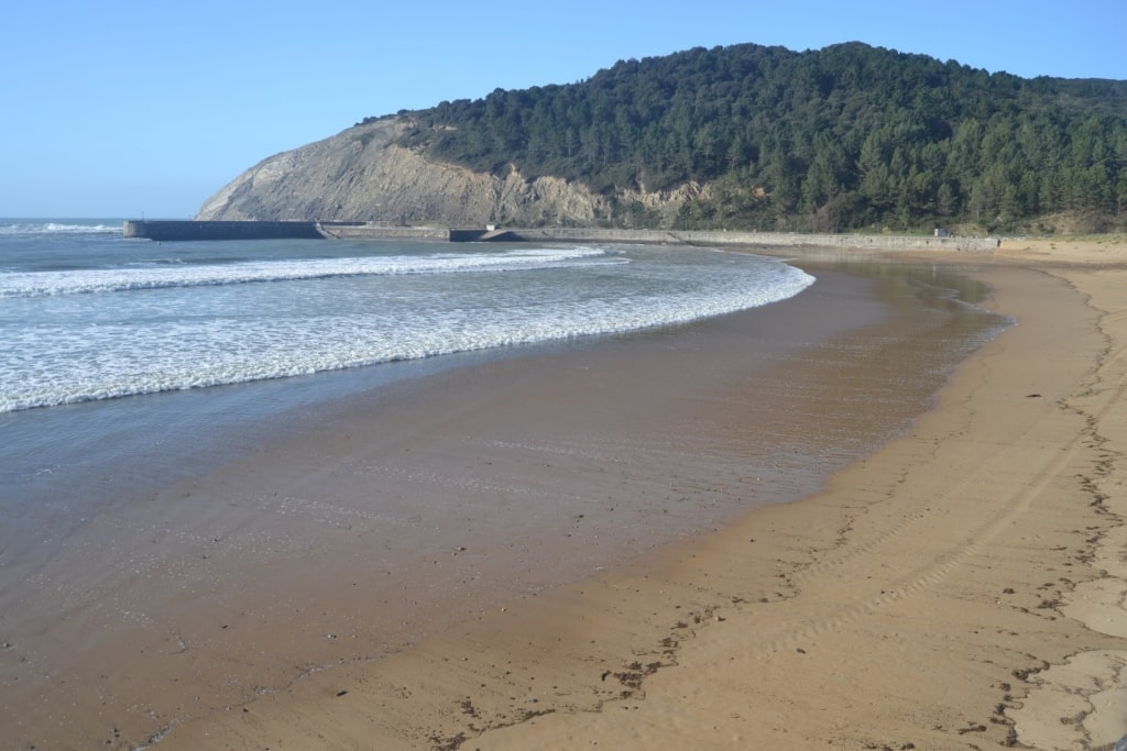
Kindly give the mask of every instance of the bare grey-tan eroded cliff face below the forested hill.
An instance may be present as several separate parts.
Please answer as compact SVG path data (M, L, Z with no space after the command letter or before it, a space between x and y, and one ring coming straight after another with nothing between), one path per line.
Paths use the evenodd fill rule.
M270 157L207 199L196 218L592 226L613 212L614 200L560 178L526 180L515 170L485 175L431 162L394 145L407 127L387 118ZM637 200L672 224L684 200L700 191L630 193L618 203Z

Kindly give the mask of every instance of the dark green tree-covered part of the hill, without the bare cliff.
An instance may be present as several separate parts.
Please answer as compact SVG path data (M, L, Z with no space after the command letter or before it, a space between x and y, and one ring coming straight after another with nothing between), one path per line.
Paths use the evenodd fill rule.
M694 48L396 117L415 124L402 145L480 172L562 177L612 199L708 186L681 208L685 227L1004 230L1067 215L1107 229L1127 214L1127 82L1021 79L860 43ZM612 205L613 223L660 222Z

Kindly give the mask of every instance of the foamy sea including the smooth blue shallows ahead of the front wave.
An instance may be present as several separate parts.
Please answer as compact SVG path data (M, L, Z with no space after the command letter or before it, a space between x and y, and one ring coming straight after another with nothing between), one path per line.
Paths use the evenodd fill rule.
M0 220L0 511L76 518L334 395L813 283L775 259L678 247L159 243L124 238L119 220Z

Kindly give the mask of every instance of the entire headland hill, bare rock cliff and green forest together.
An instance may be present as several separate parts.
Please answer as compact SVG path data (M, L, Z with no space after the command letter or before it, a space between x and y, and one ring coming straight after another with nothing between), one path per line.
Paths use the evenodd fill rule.
M568 86L365 118L199 218L1086 231L1127 208L1127 82L863 44L622 61Z

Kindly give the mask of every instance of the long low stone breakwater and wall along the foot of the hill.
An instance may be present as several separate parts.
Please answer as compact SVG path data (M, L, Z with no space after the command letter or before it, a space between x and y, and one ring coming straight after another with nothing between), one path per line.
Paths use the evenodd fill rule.
M953 250L992 252L997 238L885 234L802 234L700 230L611 230L600 227L447 229L389 226L375 222L197 222L128 220L126 238L176 240L435 240L443 242L622 242L677 245L841 248L849 250Z

